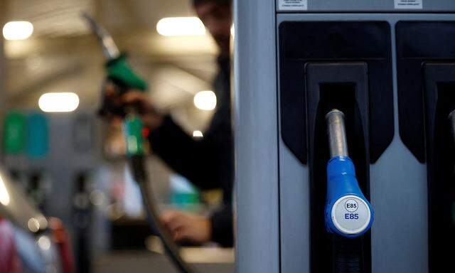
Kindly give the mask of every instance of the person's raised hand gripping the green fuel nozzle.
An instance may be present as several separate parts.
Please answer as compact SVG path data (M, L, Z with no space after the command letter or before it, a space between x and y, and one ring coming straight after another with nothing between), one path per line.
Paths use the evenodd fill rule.
M105 85L105 96L112 100L114 105L121 107L133 106L139 108L142 122L145 127L155 129L163 122L163 116L156 112L155 107L146 97L144 92L138 90L129 90L122 96L117 95L117 87L112 82L107 82Z

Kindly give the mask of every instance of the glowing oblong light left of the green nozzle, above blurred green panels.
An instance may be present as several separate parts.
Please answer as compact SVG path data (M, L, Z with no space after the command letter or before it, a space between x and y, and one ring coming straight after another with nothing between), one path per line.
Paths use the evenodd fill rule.
M45 93L38 105L43 112L73 112L79 106L79 97L72 92Z

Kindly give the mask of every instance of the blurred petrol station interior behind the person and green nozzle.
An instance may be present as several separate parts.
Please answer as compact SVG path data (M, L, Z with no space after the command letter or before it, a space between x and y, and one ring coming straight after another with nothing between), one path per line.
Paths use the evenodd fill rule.
M4 168L45 215L63 221L78 272L175 272L144 221L121 127L97 118L105 57L82 12L128 53L159 111L203 137L218 52L191 1L0 0ZM221 202L219 191L200 191L160 159L147 165L160 209L206 215ZM233 250L215 244L186 246L183 257L205 272L233 272Z

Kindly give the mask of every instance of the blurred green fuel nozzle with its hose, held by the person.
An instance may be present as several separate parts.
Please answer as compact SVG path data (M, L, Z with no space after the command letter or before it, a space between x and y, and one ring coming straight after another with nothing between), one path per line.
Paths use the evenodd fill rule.
M117 87L117 97L131 89L146 90L146 82L138 77L134 71L127 65L126 55L119 53L112 36L102 26L98 25L93 18L87 14L83 17L90 23L93 32L97 35L107 58L107 78ZM193 272L193 269L183 261L178 252L178 246L173 242L166 228L161 225L159 212L156 209L153 192L151 191L149 176L145 166L143 124L139 118L141 107L132 105L123 107L118 105L112 97L102 97L102 107L100 114L114 114L124 117L124 137L127 143L127 156L130 171L134 180L138 183L144 205L146 207L147 219L151 227L159 235L164 244L166 253L171 257L176 268L180 272Z

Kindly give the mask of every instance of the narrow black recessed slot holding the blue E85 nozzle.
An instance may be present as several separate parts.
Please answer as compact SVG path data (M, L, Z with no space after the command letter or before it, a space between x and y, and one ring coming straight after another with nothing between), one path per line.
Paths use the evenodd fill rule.
M305 75L306 119L309 125L307 130L311 194L311 273L371 273L369 232L355 237L356 235L346 236L327 231L326 219L331 219L331 209L326 210L328 193L336 193L338 186L345 185L344 179L347 176L338 176L338 179L328 183L328 177L325 175L328 171L328 161L341 161L338 164L351 167L345 168L350 170L349 179L358 178L358 186L368 196L370 173L368 66L365 63L309 63L306 65ZM333 109L338 109L343 114L332 112ZM328 114L329 112L332 113ZM343 124L341 131L344 133L328 134L331 129L328 128L327 122L333 118L332 114L338 121L343 121L335 122L337 125L333 131L337 131L336 127ZM346 145L344 141L340 141L343 148L336 149L341 150L341 153L331 153L330 135L333 137L341 135L341 139L346 139ZM332 154L346 156L332 158ZM340 166L338 164L331 166ZM336 173L339 173L339 169ZM342 197L331 196L329 199L335 201ZM343 201L343 198L341 199ZM342 201L339 203L340 209L345 208L346 202Z

